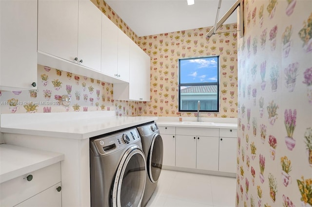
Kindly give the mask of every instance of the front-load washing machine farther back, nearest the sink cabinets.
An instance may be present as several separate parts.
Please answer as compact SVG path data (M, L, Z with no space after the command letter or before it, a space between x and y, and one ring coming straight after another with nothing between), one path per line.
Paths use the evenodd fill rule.
M146 206L156 189L162 168L163 143L156 122L137 127L146 156L147 176L142 206Z

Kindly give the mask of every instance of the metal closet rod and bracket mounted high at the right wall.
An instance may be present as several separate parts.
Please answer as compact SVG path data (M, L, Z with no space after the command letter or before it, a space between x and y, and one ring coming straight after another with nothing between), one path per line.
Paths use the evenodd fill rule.
M239 30L240 31L240 36L243 36L243 29L244 29L244 25L243 25L243 1L242 0L237 0L233 6L225 13L225 15L219 20L218 20L218 16L219 16L219 9L221 7L221 0L219 0L219 5L218 5L218 9L217 9L217 14L215 17L215 26L213 26L213 28L211 28L211 30L207 33L206 37L211 37L212 35L215 35L216 30L219 29L219 27L233 14L233 12L235 11L235 9L239 6Z

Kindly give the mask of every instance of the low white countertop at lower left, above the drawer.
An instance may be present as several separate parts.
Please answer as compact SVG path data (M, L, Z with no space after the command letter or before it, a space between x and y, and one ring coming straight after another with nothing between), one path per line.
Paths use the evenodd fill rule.
M0 144L0 183L64 160L60 153Z

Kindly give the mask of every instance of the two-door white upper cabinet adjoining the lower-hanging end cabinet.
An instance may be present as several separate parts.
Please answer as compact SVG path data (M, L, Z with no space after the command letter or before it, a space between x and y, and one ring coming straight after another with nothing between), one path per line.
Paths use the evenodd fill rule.
M102 16L101 71L129 82L130 38L108 17Z

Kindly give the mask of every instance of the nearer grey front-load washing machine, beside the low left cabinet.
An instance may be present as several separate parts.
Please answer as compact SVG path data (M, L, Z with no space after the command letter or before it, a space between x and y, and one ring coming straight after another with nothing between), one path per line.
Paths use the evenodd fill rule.
M140 207L146 171L137 128L90 138L91 207Z

